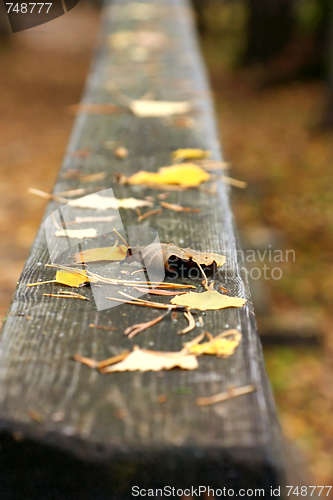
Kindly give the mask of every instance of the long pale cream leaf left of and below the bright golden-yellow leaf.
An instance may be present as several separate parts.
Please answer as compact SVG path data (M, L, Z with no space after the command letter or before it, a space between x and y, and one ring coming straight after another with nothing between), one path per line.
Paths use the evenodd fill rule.
M66 200L66 203L68 200ZM116 210L118 208L135 209L137 207L151 207L152 203L147 200L137 200L135 198L117 199L114 197L101 196L97 193L88 194L77 200L71 200L68 205L76 208L91 208L94 210L107 210L111 208Z

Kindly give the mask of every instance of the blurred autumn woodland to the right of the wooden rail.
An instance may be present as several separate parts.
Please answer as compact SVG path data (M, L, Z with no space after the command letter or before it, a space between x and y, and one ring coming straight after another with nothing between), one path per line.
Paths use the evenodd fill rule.
M270 25L277 3L287 20ZM266 12L251 13L254 4ZM260 248L264 234L267 248L295 251L295 262L279 264L281 279L250 284L264 343L270 330L285 339L265 349L267 369L283 431L304 452L314 484L333 478L331 7L216 0L198 13L225 159L230 175L248 182L232 196L243 246ZM251 33L256 15L266 25Z

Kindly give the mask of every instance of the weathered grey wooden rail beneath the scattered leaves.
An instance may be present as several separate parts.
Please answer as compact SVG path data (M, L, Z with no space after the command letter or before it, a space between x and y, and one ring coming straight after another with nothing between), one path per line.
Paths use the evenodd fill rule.
M95 191L112 188L117 198L156 197L158 191L153 189L116 185L114 174L130 175L139 169L156 171L170 164L170 152L178 148L208 149L215 160L221 160L209 86L187 2L147 1L156 6L156 14L145 21L123 15L127 3L114 2L104 9L104 28L83 102L116 104L105 90L106 81L113 79L123 93L133 98L149 91L160 100L190 100L194 126L181 128L169 118L137 118L126 109L116 115L80 114L54 193L92 186ZM168 45L148 55L143 51L145 58L140 61L142 53L138 56L135 50L110 50L107 35L122 30L163 32ZM128 149L128 158L117 159L105 147L105 141L120 142ZM81 148L89 148L90 155L79 158L69 154ZM105 171L106 177L91 184L66 180L63 174L73 168L87 175ZM166 318L129 341L123 334L128 326L153 319L160 312L130 305L98 311L90 287L78 290L90 302L43 296L57 293L59 285L28 288L27 283L54 278L54 270L44 267L49 262L44 222L60 206L52 201L2 330L1 428L19 430L37 442L68 450L86 460L111 464L114 491L124 495L135 482L164 485L171 481L172 485L184 486L184 482L206 481L215 487L277 484L283 469L280 430L234 229L229 188L218 182L217 196L199 190L172 191L167 201L201 211L165 210L138 224L135 211L121 209L122 223L125 227L152 227L161 242L227 257L217 281L230 290L230 295L246 298L246 306L208 311L202 317L204 329L213 335L228 328L242 332L243 340L235 355L228 359L202 356L198 370L162 374L103 376L74 362L74 354L102 360L135 344L176 351L202 329L197 327L186 338L177 336L186 324L178 314L177 321ZM113 212L76 209L75 213L105 216ZM100 237L89 240L84 248L110 246L114 241L112 227L112 223L100 225ZM51 247L55 253L63 252L63 239L53 237ZM60 261L70 262L71 253L74 251L70 248ZM116 293L110 289L108 293ZM91 323L114 326L117 331L92 328ZM209 408L195 404L196 398L222 392L229 385L248 384L253 384L256 392ZM166 396L163 404L157 399L160 394ZM43 416L43 423L31 419L31 410ZM126 411L124 418L119 418L119 410ZM59 412L64 419L56 422L54 414Z

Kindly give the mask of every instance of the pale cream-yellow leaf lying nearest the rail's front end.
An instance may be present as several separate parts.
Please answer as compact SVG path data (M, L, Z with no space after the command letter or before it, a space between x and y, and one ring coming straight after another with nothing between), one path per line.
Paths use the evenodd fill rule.
M104 373L125 371L160 371L178 367L183 370L195 370L199 364L193 354L175 352L148 351L134 348L134 350L120 363L105 368Z

